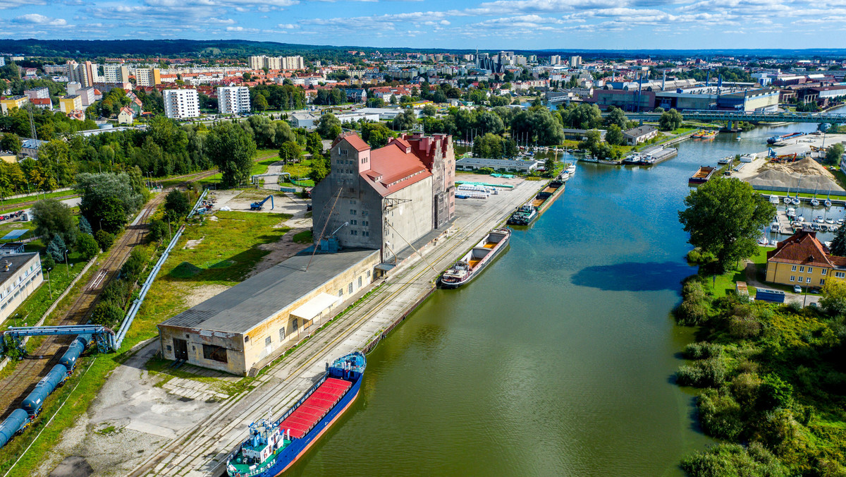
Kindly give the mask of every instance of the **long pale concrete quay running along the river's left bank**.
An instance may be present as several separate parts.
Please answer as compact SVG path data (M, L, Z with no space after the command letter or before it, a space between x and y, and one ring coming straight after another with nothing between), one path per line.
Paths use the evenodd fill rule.
M259 375L254 389L223 402L198 424L179 430L129 475L224 474L229 453L248 435L248 424L266 417L268 411L274 418L283 413L323 374L324 363L367 347L393 328L431 294L434 280L460 253L545 185L546 181L520 181L514 189L486 200L456 200L453 227L393 269L378 291Z

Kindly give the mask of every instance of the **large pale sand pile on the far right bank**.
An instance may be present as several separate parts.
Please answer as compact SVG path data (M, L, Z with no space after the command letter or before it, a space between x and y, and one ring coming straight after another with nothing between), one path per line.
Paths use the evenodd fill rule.
M795 163L766 163L758 169L758 174L749 179L752 186L766 188L783 187L805 191L843 191L834 176L814 159L804 158Z

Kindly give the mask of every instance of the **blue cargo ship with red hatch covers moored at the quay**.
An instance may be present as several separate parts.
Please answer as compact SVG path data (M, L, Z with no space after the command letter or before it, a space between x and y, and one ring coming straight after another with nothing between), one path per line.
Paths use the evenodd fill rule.
M275 477L288 470L358 397L366 365L360 352L336 359L282 417L250 424L250 437L227 459L228 477Z

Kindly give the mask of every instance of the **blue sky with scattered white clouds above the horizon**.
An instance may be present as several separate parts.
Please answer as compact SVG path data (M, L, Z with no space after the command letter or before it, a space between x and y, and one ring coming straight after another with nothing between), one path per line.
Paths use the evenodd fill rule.
M0 0L0 37L360 47L846 47L846 0Z

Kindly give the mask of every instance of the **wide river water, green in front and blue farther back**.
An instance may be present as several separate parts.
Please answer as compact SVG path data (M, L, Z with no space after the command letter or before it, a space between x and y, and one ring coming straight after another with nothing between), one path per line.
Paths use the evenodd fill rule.
M788 125L684 141L650 168L578 164L469 286L438 290L368 356L361 395L294 475L681 475L712 441L673 385L673 323L700 164ZM507 192L506 192L507 193Z

